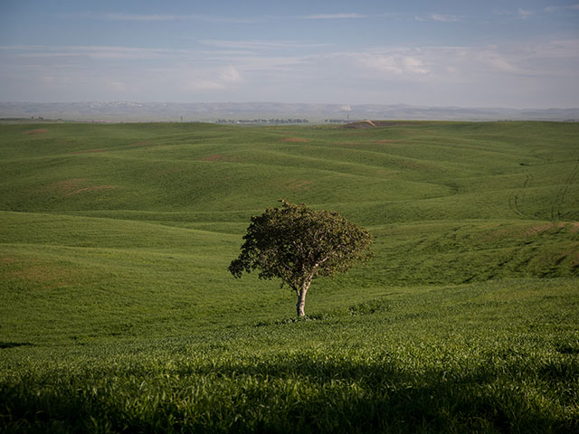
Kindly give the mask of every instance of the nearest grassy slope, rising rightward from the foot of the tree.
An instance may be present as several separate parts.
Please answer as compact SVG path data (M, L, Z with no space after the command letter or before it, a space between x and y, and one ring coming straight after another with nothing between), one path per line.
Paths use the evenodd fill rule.
M0 428L573 432L578 300L573 280L557 282L398 290L189 338L5 348Z

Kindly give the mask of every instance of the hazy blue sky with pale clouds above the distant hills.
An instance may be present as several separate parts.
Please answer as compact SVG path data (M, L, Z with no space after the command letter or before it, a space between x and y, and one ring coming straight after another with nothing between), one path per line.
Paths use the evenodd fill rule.
M0 101L579 107L579 0L0 0Z

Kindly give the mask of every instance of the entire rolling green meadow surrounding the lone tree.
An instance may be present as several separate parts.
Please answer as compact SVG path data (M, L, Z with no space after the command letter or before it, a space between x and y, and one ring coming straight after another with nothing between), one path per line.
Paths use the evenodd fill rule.
M0 431L579 432L579 124L0 125ZM368 264L228 272L280 198Z

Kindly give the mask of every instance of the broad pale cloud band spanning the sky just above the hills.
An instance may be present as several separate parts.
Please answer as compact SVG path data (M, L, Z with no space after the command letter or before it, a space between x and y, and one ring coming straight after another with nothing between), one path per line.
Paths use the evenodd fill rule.
M3 98L115 100L120 95L132 100L395 99L444 104L528 100L540 106L547 101L557 105L557 100L576 105L573 101L579 98L573 84L579 71L579 38L343 52L334 45L309 50L310 44L299 40L201 42L204 50L0 46Z

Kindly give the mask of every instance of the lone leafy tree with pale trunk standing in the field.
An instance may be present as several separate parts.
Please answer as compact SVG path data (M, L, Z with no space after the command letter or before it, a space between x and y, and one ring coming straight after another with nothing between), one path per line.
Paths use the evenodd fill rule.
M298 296L298 316L305 316L306 293L312 279L345 272L370 259L372 237L339 212L316 211L303 203L280 200L268 208L243 236L242 252L229 270L235 278L259 269L259 278L280 278Z

